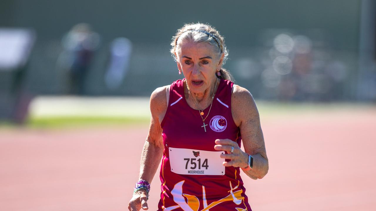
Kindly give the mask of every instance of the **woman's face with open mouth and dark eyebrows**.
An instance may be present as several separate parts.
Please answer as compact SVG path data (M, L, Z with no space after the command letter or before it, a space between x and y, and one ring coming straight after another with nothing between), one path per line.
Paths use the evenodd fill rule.
M209 43L187 42L180 48L177 67L182 70L191 92L201 95L215 83L215 72L221 68L223 58L218 59Z

